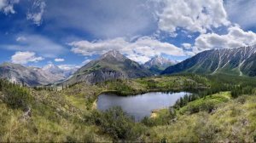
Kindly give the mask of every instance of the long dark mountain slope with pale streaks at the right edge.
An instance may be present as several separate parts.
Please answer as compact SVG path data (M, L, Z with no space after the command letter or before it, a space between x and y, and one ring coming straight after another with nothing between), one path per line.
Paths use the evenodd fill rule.
M256 76L256 47L212 49L196 54L188 60L168 67L162 74L177 72L224 73L238 76Z

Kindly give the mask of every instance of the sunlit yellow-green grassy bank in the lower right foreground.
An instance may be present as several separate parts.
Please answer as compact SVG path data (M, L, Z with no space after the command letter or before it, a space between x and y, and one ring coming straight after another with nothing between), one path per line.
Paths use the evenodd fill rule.
M253 142L256 138L255 95L242 95L230 99L228 93L207 96L213 101L214 110L202 108L201 101L195 101L177 111L177 116L169 123L150 128L148 141L168 142ZM222 96L223 95L223 96ZM215 97L214 97L215 96ZM216 99L218 98L218 99ZM230 99L230 100L229 100ZM212 106L210 102L207 102ZM203 103L207 105L207 103ZM191 106L201 110L189 112ZM186 111L186 112L184 112ZM166 117L167 110L157 117ZM160 120L155 118L154 120ZM182 127L182 128L181 128Z

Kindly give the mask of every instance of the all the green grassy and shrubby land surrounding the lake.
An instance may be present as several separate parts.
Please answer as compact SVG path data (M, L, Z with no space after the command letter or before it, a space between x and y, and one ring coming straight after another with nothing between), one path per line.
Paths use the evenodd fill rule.
M225 89L218 88L215 91L218 84L214 79L216 77L197 75L147 77L94 86L79 83L61 91L1 83L0 142L255 141L256 95L242 92L235 97L233 89L231 92L221 92ZM237 81L234 83L239 83ZM224 83L224 79L221 82ZM145 117L141 123L134 123L119 108L97 112L93 107L97 95L105 91L127 95L156 89L207 89L207 92L200 98L196 96L188 102L180 101L178 106L155 112L155 117ZM12 98L6 100L7 97Z

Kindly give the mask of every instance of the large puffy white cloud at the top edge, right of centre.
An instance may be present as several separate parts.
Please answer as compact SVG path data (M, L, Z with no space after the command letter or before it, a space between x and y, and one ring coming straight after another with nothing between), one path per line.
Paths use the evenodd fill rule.
M166 0L159 17L160 30L170 33L178 28L206 33L212 27L230 24L223 0Z

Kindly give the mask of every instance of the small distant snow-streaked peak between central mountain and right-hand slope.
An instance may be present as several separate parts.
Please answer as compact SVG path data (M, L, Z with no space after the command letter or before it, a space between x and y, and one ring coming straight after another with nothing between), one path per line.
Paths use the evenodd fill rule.
M148 60L144 66L149 69L149 71L154 74L160 74L163 72L168 66L174 65L176 62L168 60L160 55L155 56L151 60Z

